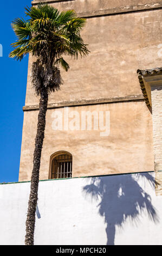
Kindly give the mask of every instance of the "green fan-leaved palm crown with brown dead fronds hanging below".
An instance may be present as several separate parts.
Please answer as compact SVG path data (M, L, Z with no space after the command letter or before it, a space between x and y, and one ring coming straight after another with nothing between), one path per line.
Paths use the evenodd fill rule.
M40 95L43 87L48 94L55 92L63 82L59 65L69 69L63 56L77 58L89 53L80 35L86 19L77 17L74 10L60 12L47 4L27 7L25 14L29 17L27 21L18 18L12 22L17 41L11 44L14 50L10 57L22 60L28 53L36 56L32 69L36 94Z

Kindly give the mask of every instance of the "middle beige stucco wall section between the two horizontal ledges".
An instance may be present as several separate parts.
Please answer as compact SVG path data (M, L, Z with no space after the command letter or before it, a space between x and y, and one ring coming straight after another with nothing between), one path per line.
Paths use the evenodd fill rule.
M83 39L90 54L62 70L64 84L49 103L139 95L137 69L161 65L161 10L87 19ZM31 63L31 58L29 59ZM25 105L38 104L28 75Z

